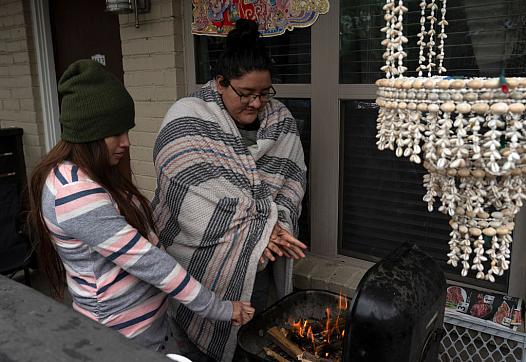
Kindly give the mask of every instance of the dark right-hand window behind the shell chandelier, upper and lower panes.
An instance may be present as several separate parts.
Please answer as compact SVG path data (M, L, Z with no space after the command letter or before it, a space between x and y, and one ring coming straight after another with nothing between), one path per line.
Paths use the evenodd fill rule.
M524 74L526 67L526 10L520 0L457 1L447 8L445 67L451 76L507 76ZM383 77L385 25L383 1L360 0L340 7L341 83L372 83ZM419 1L405 2L409 13L404 22L409 59L417 59ZM449 4L449 3L448 3ZM416 61L407 62L408 75L416 76ZM376 142L377 108L373 100L342 100L340 119L342 138L342 242L345 255L377 260L404 241L420 246L452 279L458 270L448 267L449 218L438 211L429 213L422 201L425 193L422 166L393 152L378 151ZM438 206L438 205L437 205ZM435 210L437 207L435 207ZM506 291L509 274L493 285L471 278L471 284Z

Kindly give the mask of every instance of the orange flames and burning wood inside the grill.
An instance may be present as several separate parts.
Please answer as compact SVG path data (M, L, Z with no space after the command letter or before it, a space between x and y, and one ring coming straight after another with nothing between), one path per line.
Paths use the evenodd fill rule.
M328 357L329 353L321 349L343 339L345 335L344 312L348 306L347 298L340 293L336 313L327 307L323 320L303 318L297 321L290 320L290 331L297 339L303 341L303 345L310 346L311 353L319 356L321 352L325 357ZM334 318L333 314L335 314Z

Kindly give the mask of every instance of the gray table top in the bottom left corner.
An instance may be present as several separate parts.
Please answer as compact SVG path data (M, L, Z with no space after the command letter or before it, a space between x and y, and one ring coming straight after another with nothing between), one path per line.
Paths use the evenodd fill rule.
M1 275L0 296L1 361L169 361Z

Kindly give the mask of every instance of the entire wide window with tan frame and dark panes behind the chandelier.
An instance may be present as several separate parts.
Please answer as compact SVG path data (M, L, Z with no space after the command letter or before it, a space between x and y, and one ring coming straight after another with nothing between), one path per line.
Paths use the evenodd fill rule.
M444 64L448 75L498 76L505 69L506 76L524 76L523 2L448 2ZM419 28L419 3L404 1L410 9L404 24L410 59L416 59L418 53L415 29ZM459 270L445 265L449 219L427 211L422 201L423 168L376 148L374 82L383 76L379 70L383 33L379 29L385 23L384 4L384 0L331 1L329 13L312 27L267 39L280 74L275 79L278 97L308 125L302 142L310 160L306 207L310 216L305 219L304 214L302 222L309 227L311 251L374 262L403 241L411 241L434 257L449 278L473 284L476 281L461 278ZM189 11L187 8L187 14ZM210 73L205 72L213 64L214 49L220 49L216 43L222 40L194 38L191 46L195 49L188 63L196 69L190 82L195 85L209 78ZM409 69L416 68L414 61L407 64ZM514 258L526 257L526 250L517 254L518 249L515 245ZM526 266L512 263L512 270L509 283L506 276L484 286L525 297L521 274L526 275ZM515 289L508 290L512 285Z

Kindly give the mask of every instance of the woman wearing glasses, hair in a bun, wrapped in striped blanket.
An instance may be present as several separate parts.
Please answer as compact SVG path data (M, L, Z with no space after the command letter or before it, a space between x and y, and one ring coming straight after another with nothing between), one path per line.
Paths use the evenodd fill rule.
M294 237L303 149L294 118L273 99L271 68L257 24L238 20L215 78L170 108L154 149L161 242L219 297L251 300L256 311L272 283L278 297L292 290L292 259L305 256ZM232 360L236 327L180 304L171 312L193 342L181 345L204 352L193 360Z

